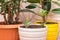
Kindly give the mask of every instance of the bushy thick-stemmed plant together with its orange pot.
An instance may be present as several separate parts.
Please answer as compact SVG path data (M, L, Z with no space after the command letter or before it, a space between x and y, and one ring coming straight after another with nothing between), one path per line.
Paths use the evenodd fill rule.
M4 22L0 22L0 40L19 40L19 7L20 0L0 0L0 14L4 17Z

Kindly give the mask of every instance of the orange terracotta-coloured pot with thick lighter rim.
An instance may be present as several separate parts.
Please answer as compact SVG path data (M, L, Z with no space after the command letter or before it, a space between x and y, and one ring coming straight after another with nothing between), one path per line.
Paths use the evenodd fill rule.
M18 25L0 25L0 40L19 40Z

